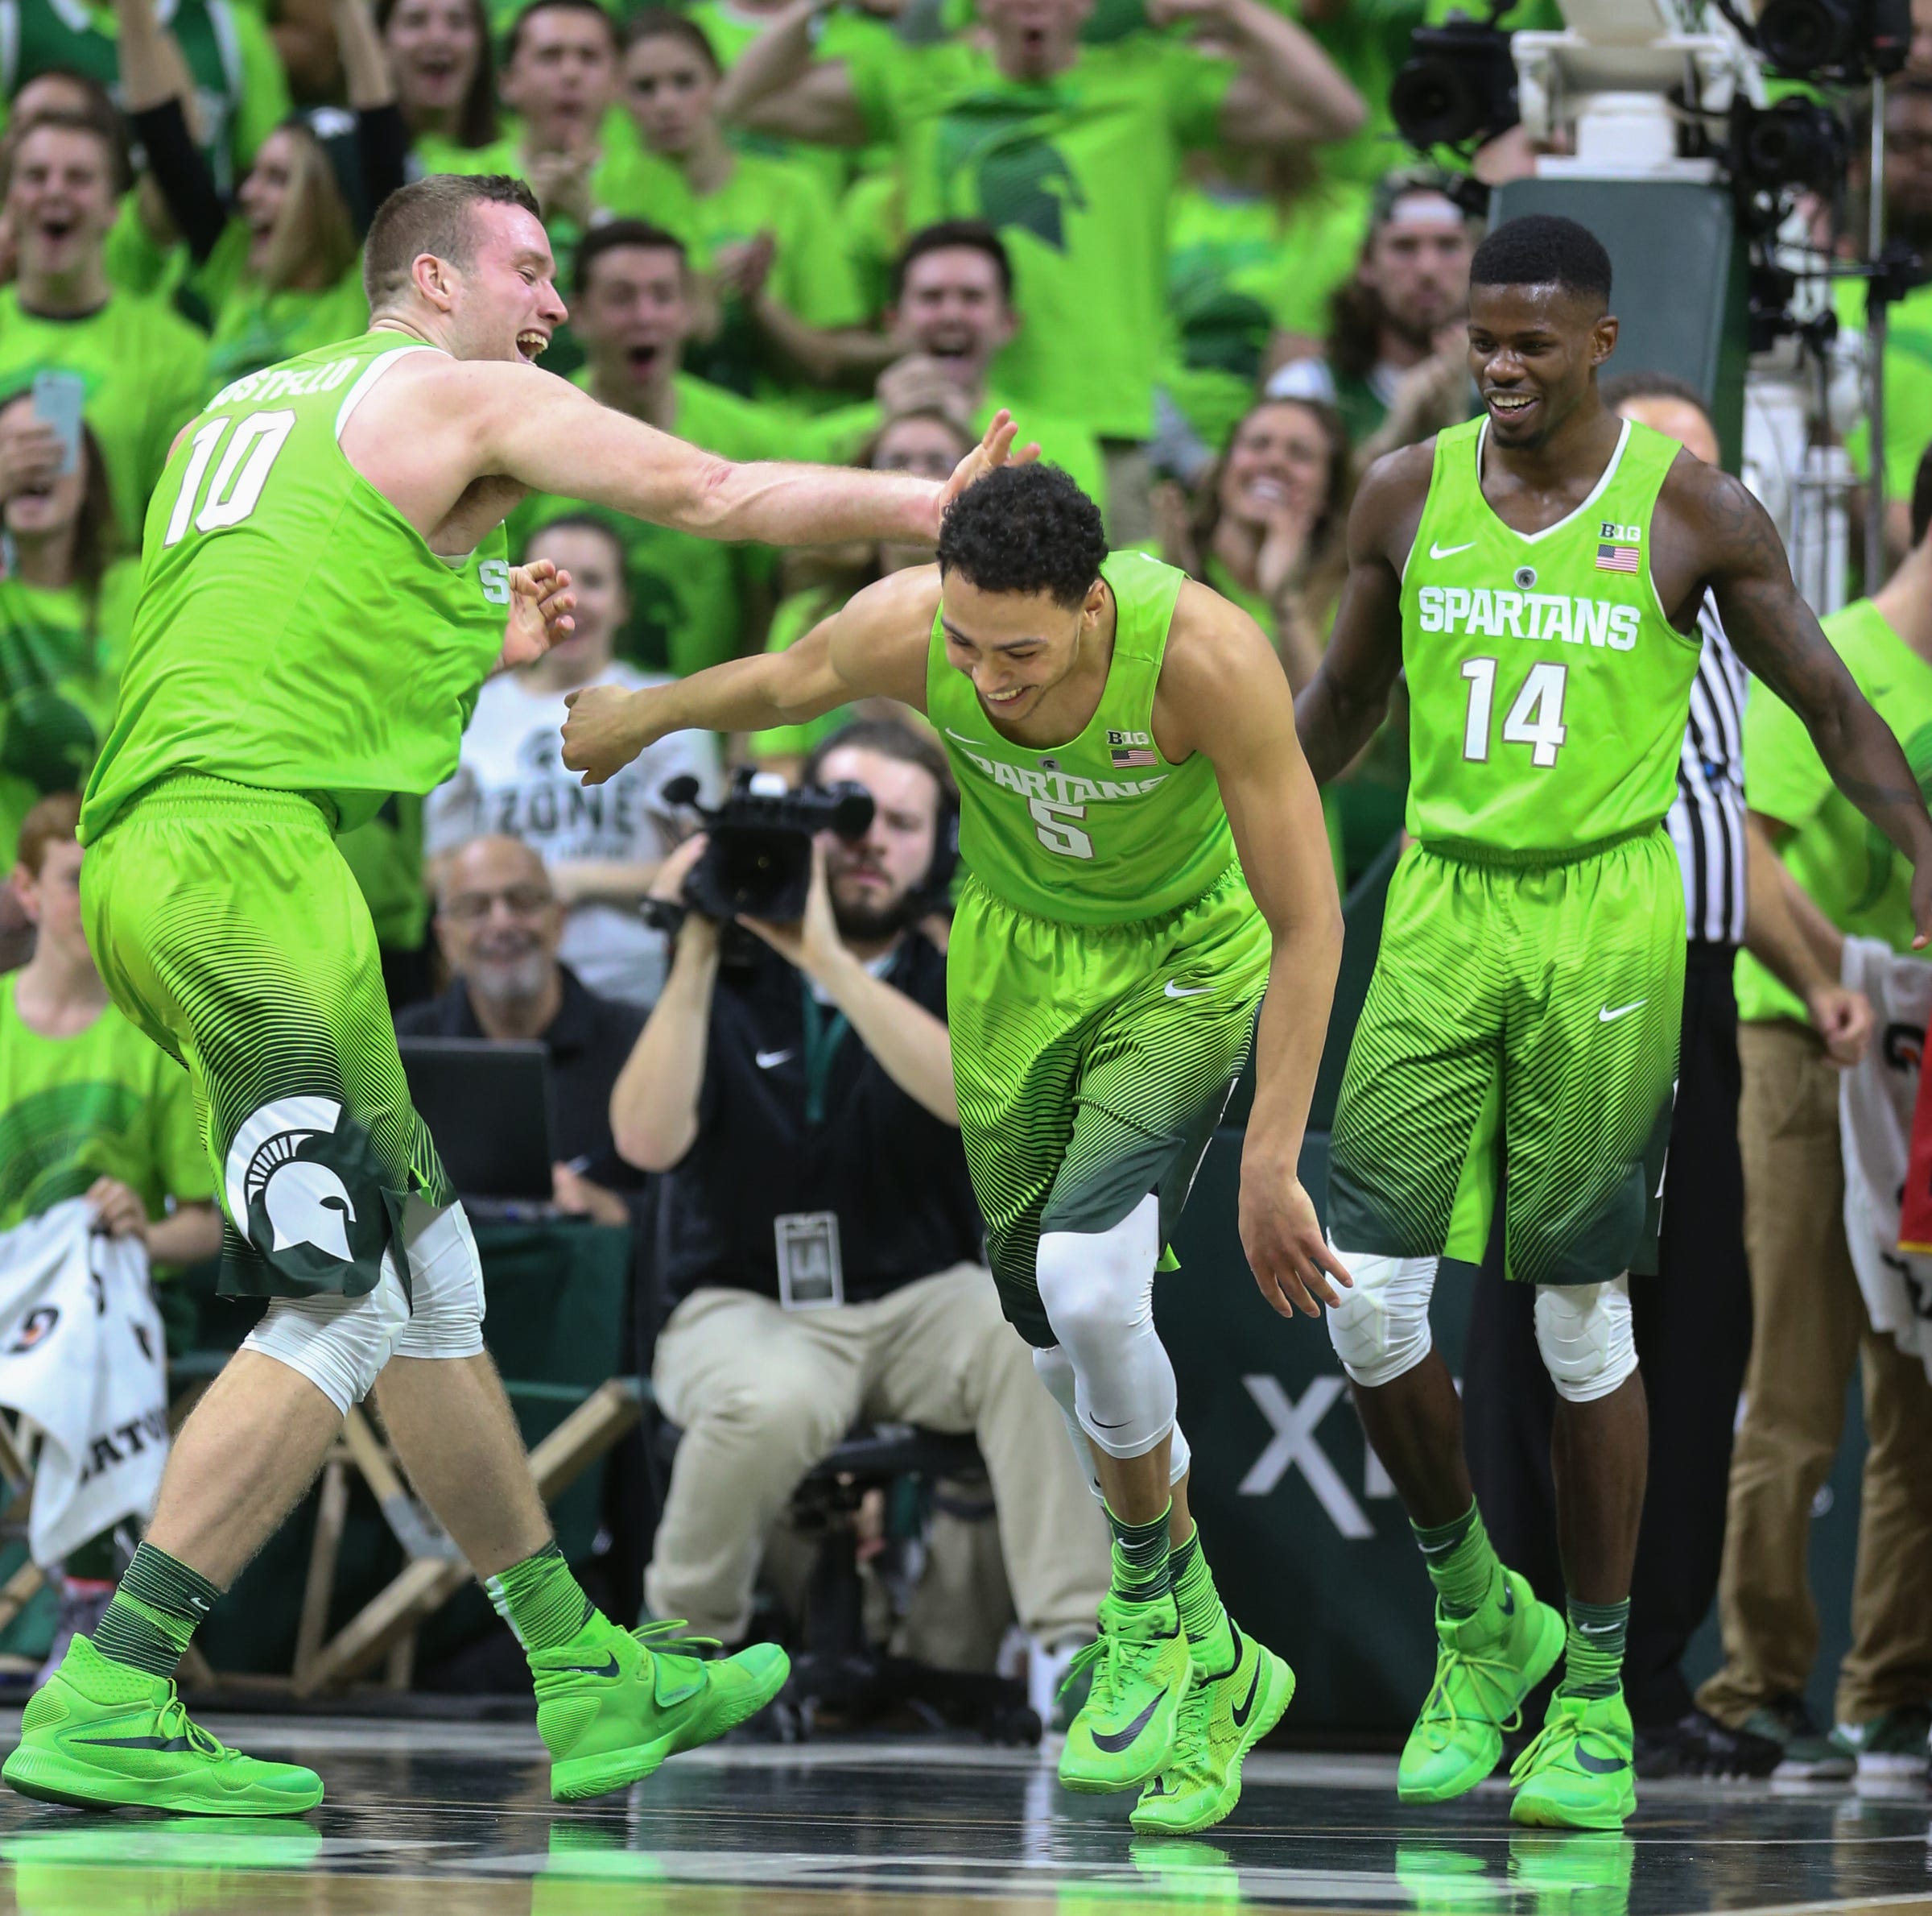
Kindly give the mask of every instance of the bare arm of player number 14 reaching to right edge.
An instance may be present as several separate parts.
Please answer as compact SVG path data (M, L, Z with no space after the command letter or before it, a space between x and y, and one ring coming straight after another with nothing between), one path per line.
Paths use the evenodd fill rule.
M1899 740L1799 597L1777 528L1743 481L1683 456L1665 489L1708 555L1704 582L1737 655L1804 721L1837 789L1913 860L1913 945L1924 945L1932 818Z

